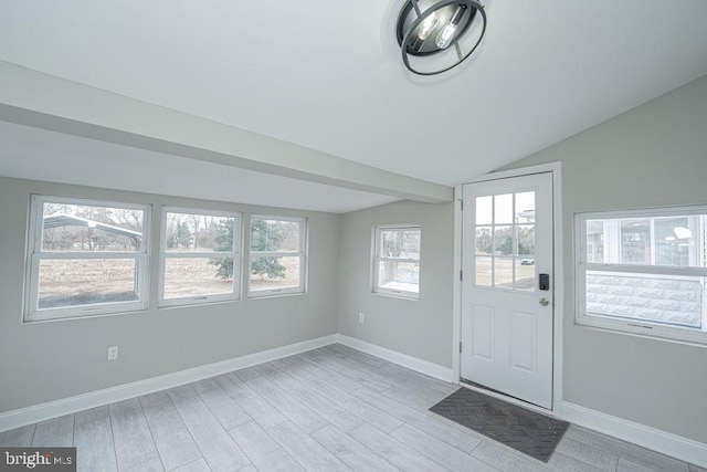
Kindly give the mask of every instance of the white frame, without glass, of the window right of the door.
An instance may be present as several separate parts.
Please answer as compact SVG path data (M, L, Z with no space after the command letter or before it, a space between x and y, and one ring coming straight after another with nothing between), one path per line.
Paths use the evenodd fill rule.
M574 214L574 269L576 269L576 322L578 325L619 332L666 340L707 345L707 331L694 331L688 327L667 326L661 323L636 318L614 318L585 313L585 282L588 271L623 272L648 275L707 276L707 268L684 268L668 265L639 265L621 263L588 263L587 221L597 219L662 218L692 214L707 214L707 206L665 207L636 210L609 210ZM705 316L705 315L703 315ZM704 328L703 328L704 329Z

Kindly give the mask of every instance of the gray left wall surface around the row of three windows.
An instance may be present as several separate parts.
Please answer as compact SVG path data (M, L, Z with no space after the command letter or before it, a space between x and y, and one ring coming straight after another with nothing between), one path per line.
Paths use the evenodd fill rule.
M235 183L234 183L235 185ZM31 193L152 204L149 310L22 324ZM160 206L228 209L309 221L304 295L157 310ZM335 334L338 214L199 201L0 177L0 412ZM118 360L106 360L118 345Z

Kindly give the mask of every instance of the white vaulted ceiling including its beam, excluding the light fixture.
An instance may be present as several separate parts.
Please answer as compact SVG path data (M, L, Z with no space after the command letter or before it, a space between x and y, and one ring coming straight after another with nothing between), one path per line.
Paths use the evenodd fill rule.
M707 74L707 2L494 0L407 72L402 1L0 4L0 175L345 212L451 189ZM190 185L184 185L190 182Z

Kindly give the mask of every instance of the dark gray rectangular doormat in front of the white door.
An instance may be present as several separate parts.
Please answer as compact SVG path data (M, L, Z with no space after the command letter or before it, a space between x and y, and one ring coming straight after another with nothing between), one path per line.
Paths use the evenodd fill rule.
M516 407L468 388L460 388L430 408L430 411L542 462L550 459L569 427L567 421Z

